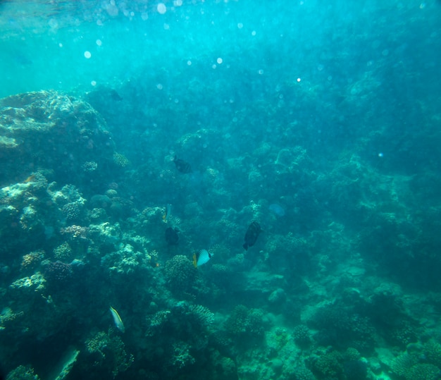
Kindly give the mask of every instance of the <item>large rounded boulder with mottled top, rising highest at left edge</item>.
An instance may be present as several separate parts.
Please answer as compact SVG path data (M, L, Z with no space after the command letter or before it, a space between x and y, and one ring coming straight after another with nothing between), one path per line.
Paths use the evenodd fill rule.
M24 180L35 168L76 178L90 173L88 162L99 171L112 157L106 123L86 102L56 91L0 99L0 183Z

